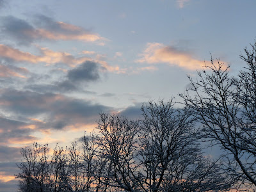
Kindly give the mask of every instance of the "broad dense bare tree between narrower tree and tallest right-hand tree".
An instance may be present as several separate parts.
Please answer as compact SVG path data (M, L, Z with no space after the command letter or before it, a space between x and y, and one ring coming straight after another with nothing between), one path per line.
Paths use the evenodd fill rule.
M203 157L190 111L175 109L174 104L173 100L166 103L160 100L141 107L143 189L157 192L230 188L228 178L220 172L220 164Z

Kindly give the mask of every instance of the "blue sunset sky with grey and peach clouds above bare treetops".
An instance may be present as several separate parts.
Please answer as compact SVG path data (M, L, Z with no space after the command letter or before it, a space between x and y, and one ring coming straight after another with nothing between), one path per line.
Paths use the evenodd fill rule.
M141 115L211 56L245 67L256 1L0 0L0 191L17 191L20 148L70 145L99 113Z

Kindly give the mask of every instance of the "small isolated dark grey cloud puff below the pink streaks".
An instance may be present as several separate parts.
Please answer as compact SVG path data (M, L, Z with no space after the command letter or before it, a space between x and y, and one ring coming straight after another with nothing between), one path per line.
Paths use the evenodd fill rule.
M67 77L70 81L81 82L81 81L97 81L99 76L99 64L86 61L79 65L79 67L68 71Z

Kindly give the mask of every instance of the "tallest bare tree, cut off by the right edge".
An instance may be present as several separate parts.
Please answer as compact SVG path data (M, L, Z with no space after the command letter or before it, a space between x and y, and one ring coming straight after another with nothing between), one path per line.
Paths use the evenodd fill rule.
M238 77L229 76L229 66L212 61L198 79L189 77L191 88L180 96L203 125L204 140L223 149L226 171L256 189L256 44L244 51L247 67Z

